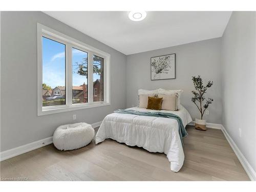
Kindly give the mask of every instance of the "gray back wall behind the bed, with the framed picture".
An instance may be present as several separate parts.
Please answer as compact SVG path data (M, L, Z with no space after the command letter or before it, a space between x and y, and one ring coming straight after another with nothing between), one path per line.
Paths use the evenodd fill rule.
M208 108L209 115L204 118L210 123L222 122L221 70L220 70L221 38L193 42L190 44L158 49L127 56L126 63L126 107L138 104L138 89L154 90L182 89L181 104L191 117L199 118L197 106L190 101L194 89L191 76L201 75L203 80L213 80L214 86L207 96L214 98ZM154 80L150 78L150 58L152 56L176 53L176 79Z

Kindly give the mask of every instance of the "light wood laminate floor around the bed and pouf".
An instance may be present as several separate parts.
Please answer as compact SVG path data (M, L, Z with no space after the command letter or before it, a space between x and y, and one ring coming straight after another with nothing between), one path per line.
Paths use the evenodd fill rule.
M28 180L249 180L221 130L187 126L184 165L170 170L166 155L150 153L108 139L74 151L61 152L53 144L1 162L1 178Z

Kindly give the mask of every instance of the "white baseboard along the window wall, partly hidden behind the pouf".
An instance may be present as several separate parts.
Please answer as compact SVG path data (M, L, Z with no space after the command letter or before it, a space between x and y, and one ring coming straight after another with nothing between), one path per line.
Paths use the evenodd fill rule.
M96 122L92 124L93 129L100 126L102 121ZM52 143L52 137L48 137L45 139L41 139L39 141L34 141L32 143L28 143L22 146L18 146L15 148L11 148L10 150L4 151L0 153L0 161L4 161L6 159L36 150L37 148L49 145Z

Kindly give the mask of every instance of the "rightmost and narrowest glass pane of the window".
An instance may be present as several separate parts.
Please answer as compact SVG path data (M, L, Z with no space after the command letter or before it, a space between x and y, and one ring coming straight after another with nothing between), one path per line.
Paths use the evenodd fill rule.
M93 101L103 101L103 58L93 55Z

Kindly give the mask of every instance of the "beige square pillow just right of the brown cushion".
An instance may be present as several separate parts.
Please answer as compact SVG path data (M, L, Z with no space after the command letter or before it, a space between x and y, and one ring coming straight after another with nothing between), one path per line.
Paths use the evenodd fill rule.
M158 97L163 98L162 105L161 105L162 110L168 110L168 111L177 110L177 100L178 100L177 93L172 95L158 94Z

